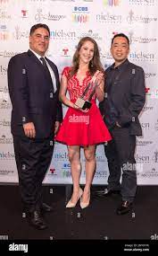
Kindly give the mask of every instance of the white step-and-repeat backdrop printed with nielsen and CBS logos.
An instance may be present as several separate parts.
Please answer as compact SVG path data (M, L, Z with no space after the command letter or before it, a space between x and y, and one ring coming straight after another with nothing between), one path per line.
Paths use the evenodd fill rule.
M96 40L104 68L112 64L112 36L123 32L129 36L129 61L142 66L146 73L146 105L140 121L143 136L137 137L137 182L158 184L158 1L157 0L0 0L0 182L17 182L12 134L12 105L8 95L9 59L29 49L29 29L38 22L51 31L47 57L61 74L71 59L80 38ZM64 113L67 110L63 106ZM82 175L85 161L81 149ZM94 184L106 184L108 166L104 146L96 149ZM46 183L71 183L71 166L67 147L55 144Z

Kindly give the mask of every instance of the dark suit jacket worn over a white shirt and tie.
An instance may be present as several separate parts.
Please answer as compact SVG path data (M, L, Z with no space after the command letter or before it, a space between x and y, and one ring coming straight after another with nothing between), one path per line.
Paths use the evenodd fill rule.
M36 137L54 135L54 122L62 120L62 104L59 102L59 74L52 61L47 62L54 71L57 91L50 92L46 71L38 58L24 52L11 58L8 65L8 87L12 102L12 134L24 136L22 125L33 122Z

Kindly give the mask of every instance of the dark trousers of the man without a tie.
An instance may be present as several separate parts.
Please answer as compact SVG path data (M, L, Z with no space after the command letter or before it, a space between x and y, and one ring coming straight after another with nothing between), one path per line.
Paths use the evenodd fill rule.
M136 136L129 134L129 128L115 127L111 134L112 141L104 146L110 172L108 190L121 190L122 199L132 202L137 190Z

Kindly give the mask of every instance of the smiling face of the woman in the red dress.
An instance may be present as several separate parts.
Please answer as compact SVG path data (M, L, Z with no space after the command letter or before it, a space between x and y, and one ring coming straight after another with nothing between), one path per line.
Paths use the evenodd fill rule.
M79 64L88 64L93 57L94 44L87 40L79 49Z

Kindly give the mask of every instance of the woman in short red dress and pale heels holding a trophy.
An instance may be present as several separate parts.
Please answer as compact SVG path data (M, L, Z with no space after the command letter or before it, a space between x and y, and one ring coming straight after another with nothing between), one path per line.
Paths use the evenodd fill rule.
M90 81L97 83L89 110L82 110L75 102L82 96ZM66 97L69 92L70 99ZM89 92L88 92L89 93ZM90 201L90 187L96 170L96 145L111 140L111 135L96 106L104 100L104 69L100 62L96 41L86 37L79 41L73 56L72 66L62 71L60 99L69 107L55 140L68 146L71 163L73 193L66 207L75 207L80 199L80 207L85 208ZM86 184L79 187L81 173L80 146L84 148L86 159Z

